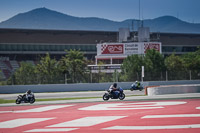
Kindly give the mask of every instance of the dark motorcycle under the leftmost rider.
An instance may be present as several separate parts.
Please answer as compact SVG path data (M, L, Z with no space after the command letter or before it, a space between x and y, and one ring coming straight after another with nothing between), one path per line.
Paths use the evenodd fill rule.
M35 96L34 94L31 94L28 96L28 99L26 98L26 94L24 95L19 95L17 96L17 99L16 99L16 104L20 104L20 103L30 103L30 104L33 104L35 102Z

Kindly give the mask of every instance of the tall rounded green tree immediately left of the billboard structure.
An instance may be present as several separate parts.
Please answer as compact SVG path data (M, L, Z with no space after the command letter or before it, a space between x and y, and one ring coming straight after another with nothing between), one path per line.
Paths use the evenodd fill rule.
M82 82L84 80L87 61L80 50L66 51L67 54L62 60L62 70L71 77L72 83Z

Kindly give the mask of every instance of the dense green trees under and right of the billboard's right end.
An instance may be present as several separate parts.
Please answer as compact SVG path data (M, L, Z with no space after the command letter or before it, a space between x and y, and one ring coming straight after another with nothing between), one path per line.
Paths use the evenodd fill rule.
M200 79L200 49L167 57L154 49L148 50L145 55L128 56L122 65L121 80L141 80L142 66L145 81Z

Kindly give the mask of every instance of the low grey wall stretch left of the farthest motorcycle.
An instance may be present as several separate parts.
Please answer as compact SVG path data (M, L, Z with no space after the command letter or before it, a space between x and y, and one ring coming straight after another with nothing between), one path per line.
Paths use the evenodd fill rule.
M72 91L104 91L113 83L79 83L79 84L48 84L48 85L9 85L0 86L0 94L24 93L28 89L39 92L72 92ZM120 82L118 86L129 89L132 82Z

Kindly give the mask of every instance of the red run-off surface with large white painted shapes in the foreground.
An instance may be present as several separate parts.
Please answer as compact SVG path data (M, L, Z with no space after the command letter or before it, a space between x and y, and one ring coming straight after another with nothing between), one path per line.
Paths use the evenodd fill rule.
M4 104L0 132L199 133L200 94Z

